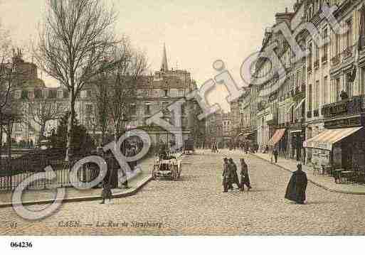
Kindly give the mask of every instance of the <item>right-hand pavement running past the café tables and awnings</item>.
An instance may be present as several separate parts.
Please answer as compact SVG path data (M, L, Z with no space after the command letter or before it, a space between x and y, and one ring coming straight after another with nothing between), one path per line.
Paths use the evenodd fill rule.
M264 161L268 161L269 163L271 163L271 154L255 153L250 155L256 156L263 159ZM295 170L297 170L297 162L287 160L285 158L277 158L277 164L273 163L273 165L288 170L290 172L294 172ZM324 188L325 190L352 195L365 195L365 185L351 183L337 184L334 183L333 177L322 175L314 176L312 168L309 168L308 166L303 165L302 170L307 173L307 178L311 183L321 188Z

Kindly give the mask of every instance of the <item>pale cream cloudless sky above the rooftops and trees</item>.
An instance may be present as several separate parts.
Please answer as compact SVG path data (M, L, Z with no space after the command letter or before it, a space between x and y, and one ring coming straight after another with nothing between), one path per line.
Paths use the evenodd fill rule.
M105 0L118 12L115 33L127 35L145 50L151 71L159 70L166 44L169 68L188 70L198 85L213 78L215 60L223 60L238 85L245 58L260 50L264 30L273 26L275 13L292 11L296 0ZM46 0L0 0L0 21L18 45L36 40ZM48 86L57 82L40 74ZM208 97L229 109L226 90Z

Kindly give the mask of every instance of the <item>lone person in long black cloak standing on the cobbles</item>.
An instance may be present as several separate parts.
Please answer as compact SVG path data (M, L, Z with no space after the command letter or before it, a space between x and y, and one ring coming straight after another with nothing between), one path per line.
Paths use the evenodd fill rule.
M307 183L307 174L302 171L302 165L298 164L297 170L292 173L292 178L290 178L287 185L285 198L303 205L306 200L305 190L307 189Z

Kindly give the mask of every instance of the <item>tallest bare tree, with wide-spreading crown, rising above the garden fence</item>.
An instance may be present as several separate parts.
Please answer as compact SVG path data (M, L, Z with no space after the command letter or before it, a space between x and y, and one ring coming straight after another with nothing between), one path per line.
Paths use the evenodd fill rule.
M115 45L115 11L101 0L48 0L39 43L34 49L38 66L70 93L66 159L71 148L75 99L85 84L102 72Z

